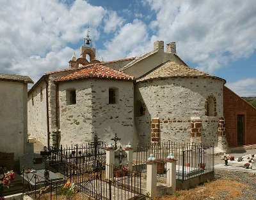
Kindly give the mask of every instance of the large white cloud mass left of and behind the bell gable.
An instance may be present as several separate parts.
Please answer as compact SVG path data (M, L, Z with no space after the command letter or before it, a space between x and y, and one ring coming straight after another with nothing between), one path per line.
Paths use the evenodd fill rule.
M1 0L0 72L30 75L36 82L42 74L68 68L72 48L86 35L88 24L94 41L107 11L76 0Z

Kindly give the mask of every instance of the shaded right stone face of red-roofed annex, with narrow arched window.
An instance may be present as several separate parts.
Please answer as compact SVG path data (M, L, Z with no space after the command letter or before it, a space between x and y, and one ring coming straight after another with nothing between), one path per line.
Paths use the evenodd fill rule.
M116 91L115 104L109 104L109 88ZM137 143L133 102L133 82L92 80L92 125L101 141L113 143L111 138L117 133L122 145Z

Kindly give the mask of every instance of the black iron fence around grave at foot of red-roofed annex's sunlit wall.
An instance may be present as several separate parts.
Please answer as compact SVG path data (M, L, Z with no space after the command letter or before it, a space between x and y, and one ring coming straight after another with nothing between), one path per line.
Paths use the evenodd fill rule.
M70 169L77 171L100 171L106 163L106 146L103 142L71 145L59 149L50 147L51 156L47 159L48 167L69 176Z

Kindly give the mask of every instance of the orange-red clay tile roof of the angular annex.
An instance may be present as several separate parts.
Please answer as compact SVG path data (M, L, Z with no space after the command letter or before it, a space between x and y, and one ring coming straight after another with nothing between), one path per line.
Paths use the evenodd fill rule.
M70 73L65 76L61 76L57 78L56 82L62 82L67 80L77 80L83 78L111 78L115 80L133 80L134 77L127 75L121 71L116 71L115 69L108 68L106 66L102 66L100 64L94 64L92 66L88 66L87 68L80 69L74 73Z

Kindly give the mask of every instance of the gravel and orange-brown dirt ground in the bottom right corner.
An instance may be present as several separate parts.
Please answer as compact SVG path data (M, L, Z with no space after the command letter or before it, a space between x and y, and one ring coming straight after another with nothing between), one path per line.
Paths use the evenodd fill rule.
M215 171L215 180L159 199L256 199L256 173Z

